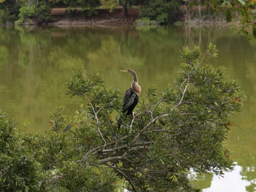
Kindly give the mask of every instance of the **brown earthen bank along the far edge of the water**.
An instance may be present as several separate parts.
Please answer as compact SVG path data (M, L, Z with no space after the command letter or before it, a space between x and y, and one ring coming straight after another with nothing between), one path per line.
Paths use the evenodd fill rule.
M76 14L72 15L68 13L67 8L53 8L51 16L55 21L47 21L39 23L36 18L30 19L29 22L25 22L20 26L59 26L59 25L135 25L135 26L145 26L146 23L136 23L136 19L139 17L140 7L133 7L128 9L128 17L121 19L121 8L116 8L113 13L109 12L109 9L97 9L97 14L91 17L82 15L81 10L76 9ZM195 12L197 14L198 7L195 6ZM196 15L195 14L195 15ZM207 24L220 24L220 25L238 25L238 21L227 23L225 19L211 18L211 19L200 19L193 17L190 20L185 20L183 15L183 8L180 7L177 14L177 21L173 23L174 25L207 25ZM203 18L203 17L202 17ZM173 25L170 24L170 25ZM12 26L14 23L5 23L1 26ZM152 26L159 26L159 23L151 24ZM169 24L166 24L169 25Z

